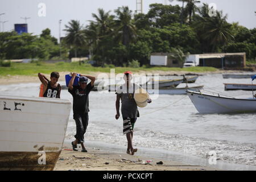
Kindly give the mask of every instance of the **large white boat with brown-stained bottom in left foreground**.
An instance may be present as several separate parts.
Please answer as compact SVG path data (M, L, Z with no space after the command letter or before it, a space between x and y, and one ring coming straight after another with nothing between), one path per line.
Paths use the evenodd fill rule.
M68 100L0 96L0 170L52 170L70 111Z

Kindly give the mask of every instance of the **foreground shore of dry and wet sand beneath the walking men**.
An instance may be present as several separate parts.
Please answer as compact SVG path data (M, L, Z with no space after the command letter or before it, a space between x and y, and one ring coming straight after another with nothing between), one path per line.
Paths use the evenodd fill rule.
M80 145L79 145L80 146ZM65 139L54 170L87 171L255 171L256 166L228 163L221 160L210 164L208 158L158 148L138 148L135 155L126 154L126 145L85 141L88 152L73 151L71 140ZM92 158L92 159L91 159ZM82 160L81 160L82 159ZM96 159L98 161L96 161ZM122 160L123 159L123 160ZM149 164L147 164L147 161ZM163 165L157 165L157 162ZM109 164L112 164L108 166ZM127 166L127 164L131 166Z

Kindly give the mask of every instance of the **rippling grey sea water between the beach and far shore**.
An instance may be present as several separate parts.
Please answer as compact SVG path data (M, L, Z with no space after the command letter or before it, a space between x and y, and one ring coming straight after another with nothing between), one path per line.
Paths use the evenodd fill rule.
M223 83L251 84L251 80L224 79L221 74L209 74L200 76L193 85L204 85L205 90L226 96L252 97L250 91L224 91ZM0 85L0 94L37 97L39 82ZM114 93L90 93L85 140L114 144L125 151L127 142L122 134L122 119L114 118L115 97ZM61 91L61 98L72 101L68 90ZM217 163L256 166L255 114L199 114L186 95L159 95L147 107L139 108L139 112L141 117L135 123L133 142L137 148L172 151L207 160L216 154ZM71 110L66 139L73 139L76 133L72 117Z

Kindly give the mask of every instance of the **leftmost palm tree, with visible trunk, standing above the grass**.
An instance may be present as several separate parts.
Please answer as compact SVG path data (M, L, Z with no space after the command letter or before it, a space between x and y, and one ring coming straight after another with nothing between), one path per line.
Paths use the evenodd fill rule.
M75 49L75 57L77 57L77 48L85 45L85 33L78 20L71 20L65 27L64 31L67 32L67 36L64 38L65 43Z

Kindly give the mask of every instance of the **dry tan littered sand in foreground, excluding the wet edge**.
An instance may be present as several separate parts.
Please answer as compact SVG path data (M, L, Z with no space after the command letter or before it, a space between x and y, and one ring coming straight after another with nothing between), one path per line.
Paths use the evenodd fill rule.
M105 151L86 147L88 152L73 151L68 144L57 160L54 171L219 171L217 168L191 166L163 159ZM156 164L163 162L163 164Z

